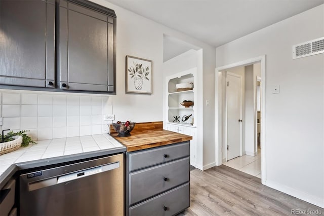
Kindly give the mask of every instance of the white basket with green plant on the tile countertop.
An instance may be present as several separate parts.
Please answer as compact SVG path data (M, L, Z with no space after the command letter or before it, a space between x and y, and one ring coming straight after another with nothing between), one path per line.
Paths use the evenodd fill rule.
M2 142L0 143L0 155L13 152L21 146L27 147L30 143L36 144L36 142L26 134L29 130L21 130L18 132L10 131L6 135L4 135L4 131L6 130L3 130L1 135Z

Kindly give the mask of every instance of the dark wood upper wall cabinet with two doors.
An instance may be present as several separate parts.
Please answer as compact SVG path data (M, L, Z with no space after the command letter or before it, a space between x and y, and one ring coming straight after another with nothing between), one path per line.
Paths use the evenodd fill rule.
M113 10L86 0L0 0L0 20L0 85L115 93Z

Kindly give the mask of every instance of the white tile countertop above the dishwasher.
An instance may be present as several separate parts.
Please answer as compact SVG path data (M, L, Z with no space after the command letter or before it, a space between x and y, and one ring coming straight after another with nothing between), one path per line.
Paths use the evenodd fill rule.
M77 136L58 139L38 140L37 144L0 155L0 176L12 165L40 159L50 159L62 156L82 155L82 153L102 152L104 150L126 151L109 134ZM3 176L1 176L3 177Z

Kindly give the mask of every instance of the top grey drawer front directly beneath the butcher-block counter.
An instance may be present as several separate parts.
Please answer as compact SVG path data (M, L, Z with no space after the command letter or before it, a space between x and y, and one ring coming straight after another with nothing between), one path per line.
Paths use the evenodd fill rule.
M189 141L130 154L129 171L189 156Z

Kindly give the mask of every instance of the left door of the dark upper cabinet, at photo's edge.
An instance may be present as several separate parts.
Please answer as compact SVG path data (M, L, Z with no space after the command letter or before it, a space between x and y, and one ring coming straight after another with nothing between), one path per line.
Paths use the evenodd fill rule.
M55 0L0 0L0 85L55 87Z

